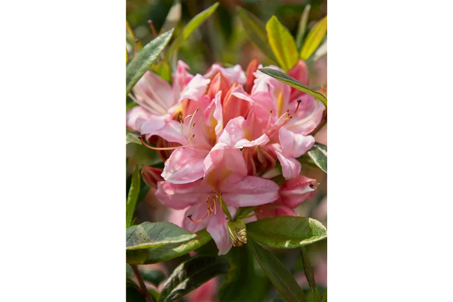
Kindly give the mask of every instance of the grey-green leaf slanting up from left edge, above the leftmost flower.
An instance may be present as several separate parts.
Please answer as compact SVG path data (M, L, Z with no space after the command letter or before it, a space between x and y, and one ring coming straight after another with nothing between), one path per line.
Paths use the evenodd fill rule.
M173 30L174 29L171 29L166 33L161 34L146 44L145 47L137 53L135 58L126 65L126 96L164 50L172 37Z

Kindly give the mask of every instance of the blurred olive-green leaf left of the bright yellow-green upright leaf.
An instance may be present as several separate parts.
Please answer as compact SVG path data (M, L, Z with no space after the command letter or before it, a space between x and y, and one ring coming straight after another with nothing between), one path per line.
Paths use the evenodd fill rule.
M266 25L257 16L242 7L238 7L237 12L249 40L268 58L277 62L269 46Z

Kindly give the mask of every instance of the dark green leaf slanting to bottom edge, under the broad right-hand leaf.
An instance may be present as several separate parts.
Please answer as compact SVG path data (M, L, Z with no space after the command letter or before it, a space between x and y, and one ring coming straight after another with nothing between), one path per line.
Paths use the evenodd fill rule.
M253 240L249 241L253 254L275 288L289 302L304 301L304 293L288 269L269 251Z

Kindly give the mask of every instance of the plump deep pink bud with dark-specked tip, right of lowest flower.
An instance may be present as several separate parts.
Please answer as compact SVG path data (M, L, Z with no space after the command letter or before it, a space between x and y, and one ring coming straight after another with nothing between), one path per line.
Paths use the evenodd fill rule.
M278 194L284 205L296 208L299 204L312 197L317 187L318 183L316 180L298 175L293 179L285 180L281 184Z

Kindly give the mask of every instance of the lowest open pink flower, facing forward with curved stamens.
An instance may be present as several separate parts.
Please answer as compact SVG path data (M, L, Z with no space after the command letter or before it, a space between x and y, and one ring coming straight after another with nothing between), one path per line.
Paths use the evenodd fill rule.
M191 232L203 228L211 234L219 255L230 250L232 243L225 213L219 198L234 217L240 206L261 205L278 198L278 186L266 179L247 176L241 151L224 147L209 153L204 160L205 176L188 184L159 182L156 197L163 204L186 211L182 226ZM207 197L207 199L206 199ZM217 208L218 207L218 208Z

